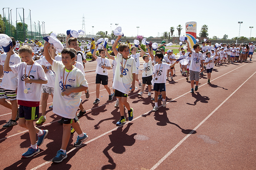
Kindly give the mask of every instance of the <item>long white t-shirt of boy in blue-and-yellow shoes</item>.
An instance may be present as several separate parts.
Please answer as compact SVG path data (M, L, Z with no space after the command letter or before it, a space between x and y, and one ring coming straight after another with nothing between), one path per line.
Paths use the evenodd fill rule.
M132 83L132 74L137 72L136 62L133 57L128 57L127 60L123 58L122 54L117 54L115 57L116 72L112 87L124 94L128 94ZM126 62L126 63L125 63ZM123 63L123 68L122 68ZM121 70L123 69L121 78Z

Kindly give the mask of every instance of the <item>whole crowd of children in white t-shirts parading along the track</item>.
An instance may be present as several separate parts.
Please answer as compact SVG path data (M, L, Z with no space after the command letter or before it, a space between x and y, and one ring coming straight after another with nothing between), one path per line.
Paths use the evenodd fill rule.
M3 35L3 34L2 34ZM4 36L4 35L3 35ZM84 91L86 98L89 98L88 83L85 79L84 67L86 63L86 52L92 52L93 60L97 62L96 66L96 99L93 104L100 103L100 84L106 88L109 98L113 100L116 96L115 107L119 106L120 119L116 125L122 125L126 122L124 107L128 111L128 120L132 121L134 110L127 97L130 91L134 91L135 81L138 82L139 96L143 97L145 86L148 86L148 96L151 96L151 89L154 91L154 104L152 111L158 110L158 100L162 100L163 107L166 107L166 81L169 76L173 79L175 74L174 66L180 60L186 60L188 64L180 63L180 72L182 76L190 77L191 93L198 90L200 75L206 69L208 84L212 69L218 64L247 62L247 58L252 60L255 46L252 43L247 44L215 44L211 45L210 41L202 42L202 46L195 44L192 49L189 42L184 50L180 46L180 57L176 59L173 50L168 49L165 53L164 42L159 45L155 51L146 44L146 51L140 46L140 52L137 48L132 47L128 41L122 44L121 36L118 36L112 44L113 52L108 53L108 49L100 44L95 45L95 41L78 41L74 37L67 35L66 41L63 42L65 47L61 54L57 54L53 45L45 42L44 45L38 40L26 40L25 42L34 43L35 47L21 45L19 41L12 39L12 47L8 52L0 56L0 74L3 76L0 84L0 104L12 109L11 119L3 126L8 128L17 124L28 129L31 146L28 151L22 154L22 157L28 158L40 152L39 146L44 142L48 130L41 130L34 126L46 121L46 106L49 94L52 95L53 104L49 108L53 113L62 117L60 123L63 124L63 137L60 150L53 162L61 162L67 158L66 148L70 134L77 132L77 140L74 146L80 146L88 135L80 127L78 117L86 113L81 94ZM18 45L17 45L18 44ZM80 44L80 45L79 45ZM101 46L99 48L99 46ZM117 47L117 48L116 48ZM96 50L99 56L96 55ZM165 55L166 54L166 55ZM140 57L145 61L143 68L140 69ZM110 59L112 65L110 64ZM22 60L22 62L21 62ZM176 66L177 67L177 66ZM108 86L108 70L113 69L113 94ZM142 82L138 78L139 71L142 71ZM194 81L196 82L194 88ZM42 96L42 115L39 117L39 102ZM8 101L9 100L9 101ZM18 107L19 105L19 107ZM77 114L77 109L80 112ZM71 131L70 131L71 130ZM38 141L36 142L36 134Z

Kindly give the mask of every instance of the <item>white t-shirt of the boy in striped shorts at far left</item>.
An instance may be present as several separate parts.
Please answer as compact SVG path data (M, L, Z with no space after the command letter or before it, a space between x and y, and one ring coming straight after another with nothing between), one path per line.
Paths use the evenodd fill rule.
M4 68L4 62L6 60L7 53L4 53L0 57L0 64ZM19 64L21 62L20 56L16 53L11 55L9 66ZM14 74L12 71L4 71L4 76L2 79L2 83L0 84L0 87L7 90L16 90L18 86L18 74Z

